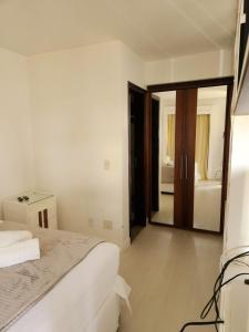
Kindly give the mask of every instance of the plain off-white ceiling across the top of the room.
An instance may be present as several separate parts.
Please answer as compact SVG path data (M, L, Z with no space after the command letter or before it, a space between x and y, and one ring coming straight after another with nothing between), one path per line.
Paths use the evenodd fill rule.
M230 49L237 0L0 0L0 46L37 54L120 39L145 60Z

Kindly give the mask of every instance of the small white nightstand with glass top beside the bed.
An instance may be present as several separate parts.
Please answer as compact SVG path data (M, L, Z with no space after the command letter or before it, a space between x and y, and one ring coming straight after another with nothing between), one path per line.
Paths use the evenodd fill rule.
M3 219L34 227L56 229L55 196L32 190L7 198L3 201Z

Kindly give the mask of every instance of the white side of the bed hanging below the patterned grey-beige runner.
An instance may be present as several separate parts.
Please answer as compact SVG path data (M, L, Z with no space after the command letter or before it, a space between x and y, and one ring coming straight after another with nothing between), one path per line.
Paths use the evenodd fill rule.
M8 331L86 331L112 292L118 266L118 247L98 245Z

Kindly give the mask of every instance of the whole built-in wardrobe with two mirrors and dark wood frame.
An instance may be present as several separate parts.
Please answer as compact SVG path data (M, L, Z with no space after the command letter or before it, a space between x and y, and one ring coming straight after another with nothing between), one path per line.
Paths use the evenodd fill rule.
M151 222L222 234L232 82L221 77L148 86L159 104L157 166L158 114L151 100Z

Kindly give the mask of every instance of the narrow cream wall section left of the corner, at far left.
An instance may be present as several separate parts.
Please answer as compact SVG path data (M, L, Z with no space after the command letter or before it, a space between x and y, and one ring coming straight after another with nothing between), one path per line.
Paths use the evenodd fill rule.
M0 49L0 218L4 196L34 186L27 59Z

